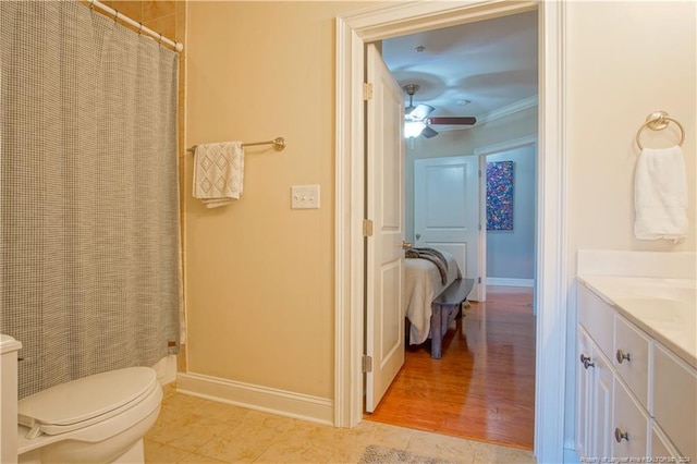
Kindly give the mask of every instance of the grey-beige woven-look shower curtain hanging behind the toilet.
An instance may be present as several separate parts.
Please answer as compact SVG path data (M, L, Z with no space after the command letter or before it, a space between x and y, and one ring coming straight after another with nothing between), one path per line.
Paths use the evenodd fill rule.
M0 1L0 332L20 396L179 351L178 54Z

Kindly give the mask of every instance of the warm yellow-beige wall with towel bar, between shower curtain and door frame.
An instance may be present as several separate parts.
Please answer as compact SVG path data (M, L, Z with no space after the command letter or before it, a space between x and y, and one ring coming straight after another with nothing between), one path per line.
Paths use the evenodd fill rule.
M246 149L244 193L206 209L187 159L188 370L333 398L334 17L359 2L189 2L187 144ZM319 184L321 208L290 208Z

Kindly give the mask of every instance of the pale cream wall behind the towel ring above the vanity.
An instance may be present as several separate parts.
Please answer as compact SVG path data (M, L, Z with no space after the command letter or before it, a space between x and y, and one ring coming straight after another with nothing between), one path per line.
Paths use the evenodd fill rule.
M567 154L570 271L583 248L695 251L696 8L690 2L568 2ZM634 237L635 134L665 110L687 136L689 231L681 245ZM645 146L675 145L671 124ZM662 138L652 141L651 135Z

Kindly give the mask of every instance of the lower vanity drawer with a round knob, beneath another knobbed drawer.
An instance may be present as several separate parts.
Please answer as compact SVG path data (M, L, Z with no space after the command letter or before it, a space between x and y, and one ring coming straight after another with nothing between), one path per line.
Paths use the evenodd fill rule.
M614 420L612 424L614 457L648 455L649 417L616 377L614 379Z

